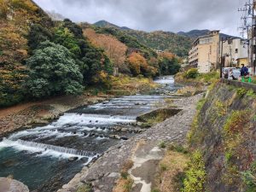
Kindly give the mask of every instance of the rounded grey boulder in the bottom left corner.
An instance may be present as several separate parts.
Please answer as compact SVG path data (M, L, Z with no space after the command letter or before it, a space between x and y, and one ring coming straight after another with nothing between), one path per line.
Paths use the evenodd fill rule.
M0 177L0 192L29 192L29 189L12 178Z

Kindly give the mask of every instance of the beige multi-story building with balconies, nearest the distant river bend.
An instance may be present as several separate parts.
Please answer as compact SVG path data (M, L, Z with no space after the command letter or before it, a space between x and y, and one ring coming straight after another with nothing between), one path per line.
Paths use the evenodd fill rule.
M195 39L189 51L189 66L198 68L199 73L209 73L218 67L219 31Z

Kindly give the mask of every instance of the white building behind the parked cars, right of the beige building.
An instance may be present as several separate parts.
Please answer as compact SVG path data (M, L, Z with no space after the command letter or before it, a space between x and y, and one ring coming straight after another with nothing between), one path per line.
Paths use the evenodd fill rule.
M248 55L248 45L241 38L232 38L223 43L224 67L247 66Z

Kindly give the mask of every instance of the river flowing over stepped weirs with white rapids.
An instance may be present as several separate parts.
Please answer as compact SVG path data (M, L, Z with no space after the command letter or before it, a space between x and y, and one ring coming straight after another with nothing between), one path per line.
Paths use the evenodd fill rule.
M160 90L176 89L172 77L155 82L165 85ZM2 138L0 177L12 175L31 191L56 191L108 148L136 135L137 116L164 106L165 98L161 91L114 98Z

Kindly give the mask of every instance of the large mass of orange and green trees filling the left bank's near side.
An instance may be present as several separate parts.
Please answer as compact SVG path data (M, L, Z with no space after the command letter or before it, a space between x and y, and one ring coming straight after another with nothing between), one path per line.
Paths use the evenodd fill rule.
M53 23L30 0L0 0L0 107L26 98L80 93L113 65L71 20Z

